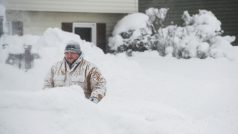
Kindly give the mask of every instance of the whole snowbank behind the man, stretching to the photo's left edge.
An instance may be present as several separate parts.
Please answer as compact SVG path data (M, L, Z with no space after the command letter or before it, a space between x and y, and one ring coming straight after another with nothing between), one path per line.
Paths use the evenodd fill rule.
M4 64L9 54L14 54L15 57L24 54L25 46L31 45L31 52L39 54L41 57L41 59L34 61L34 66L38 67L39 62L41 62L39 64L42 64L42 62L46 64L46 62L49 63L49 61L51 61L52 63L50 65L46 64L46 66L44 66L44 68L49 68L49 66L63 58L64 48L66 44L71 41L78 42L81 45L83 55L89 60L93 60L92 54L98 55L98 57L103 55L101 49L90 42L81 40L78 35L64 32L58 28L49 28L42 36L2 36L0 38L0 45L2 46L0 49L0 63ZM45 61L45 59L47 59L47 61Z

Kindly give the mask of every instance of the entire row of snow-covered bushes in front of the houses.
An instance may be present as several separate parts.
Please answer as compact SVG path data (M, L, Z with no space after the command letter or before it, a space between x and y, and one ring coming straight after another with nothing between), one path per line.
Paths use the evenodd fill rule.
M229 55L228 50L232 49L235 37L222 36L221 22L212 12L199 10L198 14L191 16L184 11L184 26L163 27L167 11L165 8L150 8L146 14L125 16L109 38L111 51L157 50L161 56L201 59Z

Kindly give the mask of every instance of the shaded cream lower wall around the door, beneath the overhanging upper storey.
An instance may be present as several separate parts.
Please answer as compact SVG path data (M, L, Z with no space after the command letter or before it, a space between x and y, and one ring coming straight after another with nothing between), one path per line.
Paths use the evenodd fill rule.
M7 21L22 21L23 33L42 35L49 27L61 29L62 22L106 23L106 37L109 37L116 22L126 14L40 12L7 10Z

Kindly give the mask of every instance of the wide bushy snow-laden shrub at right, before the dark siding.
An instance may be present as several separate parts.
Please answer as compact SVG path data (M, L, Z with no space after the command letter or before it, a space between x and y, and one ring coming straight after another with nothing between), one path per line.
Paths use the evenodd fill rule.
M234 37L228 41L221 36L221 22L212 12L199 10L198 14L190 16L185 11L182 19L185 24L183 27L171 25L158 30L155 36L158 40L157 50L160 55L172 53L174 57L186 59L227 56L224 46L231 47ZM222 45L216 45L218 42L222 42ZM167 48L170 51L167 51ZM217 50L218 48L221 49Z

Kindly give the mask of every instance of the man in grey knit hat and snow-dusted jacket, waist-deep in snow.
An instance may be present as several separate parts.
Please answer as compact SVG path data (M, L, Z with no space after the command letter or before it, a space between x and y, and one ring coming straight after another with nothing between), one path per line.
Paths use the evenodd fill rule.
M82 57L78 43L68 43L64 59L51 67L44 81L45 88L79 85L85 97L98 103L106 94L106 80L96 66Z

